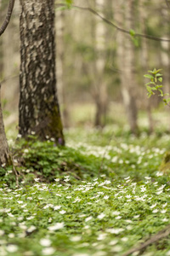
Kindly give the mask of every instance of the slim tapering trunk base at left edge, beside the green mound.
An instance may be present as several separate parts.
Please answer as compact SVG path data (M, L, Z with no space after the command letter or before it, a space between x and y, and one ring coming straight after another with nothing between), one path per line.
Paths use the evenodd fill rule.
M0 96L1 96L1 84L0 84ZM0 99L0 166L11 166L12 165L12 158L9 153L8 143L4 131L3 125L3 109L1 106L1 99Z

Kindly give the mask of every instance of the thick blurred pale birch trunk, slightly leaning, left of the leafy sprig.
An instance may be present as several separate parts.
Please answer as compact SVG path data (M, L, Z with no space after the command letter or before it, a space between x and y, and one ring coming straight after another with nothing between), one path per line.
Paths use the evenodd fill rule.
M133 28L133 0L116 3L117 11L115 17L117 23L127 30ZM130 130L135 134L138 132L137 115L138 110L135 98L134 81L134 49L129 35L117 32L117 61L120 69L122 86L122 99L127 112L127 120Z

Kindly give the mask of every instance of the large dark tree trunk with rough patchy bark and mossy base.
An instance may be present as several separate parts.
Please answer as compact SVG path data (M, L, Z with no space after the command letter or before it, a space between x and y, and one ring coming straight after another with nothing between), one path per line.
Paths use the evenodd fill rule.
M20 104L22 137L64 144L56 95L54 0L20 0Z

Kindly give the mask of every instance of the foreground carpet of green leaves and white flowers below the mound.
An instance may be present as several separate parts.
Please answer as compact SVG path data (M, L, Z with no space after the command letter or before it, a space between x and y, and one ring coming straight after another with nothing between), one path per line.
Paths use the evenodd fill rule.
M63 183L64 182L64 183ZM1 255L122 255L170 223L170 185L157 172L135 183L105 175L72 183L20 183L0 188ZM169 255L168 239L143 255ZM138 255L138 254L133 254ZM140 254L141 255L141 254Z

